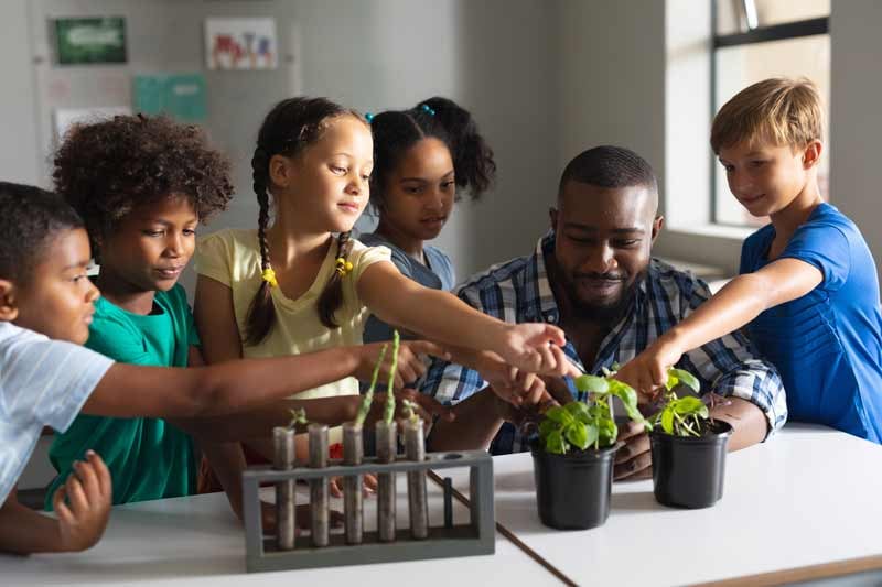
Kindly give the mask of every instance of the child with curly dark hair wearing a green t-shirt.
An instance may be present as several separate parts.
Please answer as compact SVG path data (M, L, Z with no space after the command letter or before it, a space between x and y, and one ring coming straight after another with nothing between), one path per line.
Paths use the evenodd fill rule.
M94 281L104 297L86 346L126 363L204 365L178 279L193 254L196 225L230 198L228 161L195 127L127 116L75 128L54 163L55 187L83 216L100 265ZM405 363L421 368L416 358ZM114 503L196 492L190 434L159 417L80 415L50 448L58 476L49 496L88 449L110 470ZM232 501L240 514L240 502Z

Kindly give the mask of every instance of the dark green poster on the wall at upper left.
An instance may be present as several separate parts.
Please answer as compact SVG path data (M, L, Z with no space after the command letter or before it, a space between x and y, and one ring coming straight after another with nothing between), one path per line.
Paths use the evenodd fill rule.
M55 19L61 65L126 63L126 19Z

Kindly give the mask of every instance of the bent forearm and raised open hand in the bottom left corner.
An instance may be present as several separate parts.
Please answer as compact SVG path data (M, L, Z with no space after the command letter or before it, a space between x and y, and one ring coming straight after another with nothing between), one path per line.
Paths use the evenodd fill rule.
M74 464L74 472L53 496L57 518L22 506L12 489L0 506L0 551L17 554L75 552L98 542L112 502L110 472L92 450L86 454L85 461Z

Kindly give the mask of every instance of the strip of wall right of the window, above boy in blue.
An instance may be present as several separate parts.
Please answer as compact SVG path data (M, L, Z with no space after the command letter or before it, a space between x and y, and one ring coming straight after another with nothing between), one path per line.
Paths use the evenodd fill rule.
M882 2L832 2L830 199L854 220L882 268Z

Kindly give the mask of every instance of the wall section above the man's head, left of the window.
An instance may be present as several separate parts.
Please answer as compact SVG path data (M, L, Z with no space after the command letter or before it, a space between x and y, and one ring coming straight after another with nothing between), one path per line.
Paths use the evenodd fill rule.
M558 176L585 149L616 144L639 153L663 178L665 2L564 0L558 7Z

